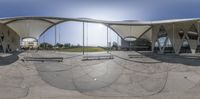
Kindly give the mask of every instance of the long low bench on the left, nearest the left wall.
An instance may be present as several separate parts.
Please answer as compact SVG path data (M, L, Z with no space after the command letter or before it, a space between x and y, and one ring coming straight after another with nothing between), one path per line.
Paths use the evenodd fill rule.
M57 62L62 62L63 57L24 57L22 61L57 61Z

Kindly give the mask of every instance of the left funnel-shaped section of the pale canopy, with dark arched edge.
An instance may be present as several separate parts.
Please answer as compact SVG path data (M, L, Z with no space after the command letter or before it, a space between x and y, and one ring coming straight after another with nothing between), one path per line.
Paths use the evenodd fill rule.
M18 33L21 38L39 36L50 27L63 22L61 19L49 19L39 17L19 17L0 19L0 23L7 25Z

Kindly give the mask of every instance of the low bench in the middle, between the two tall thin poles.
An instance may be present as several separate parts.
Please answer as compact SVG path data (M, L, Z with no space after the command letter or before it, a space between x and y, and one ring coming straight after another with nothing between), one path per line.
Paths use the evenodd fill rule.
M85 60L103 60L103 59L113 59L113 55L86 55L83 56L83 61Z

